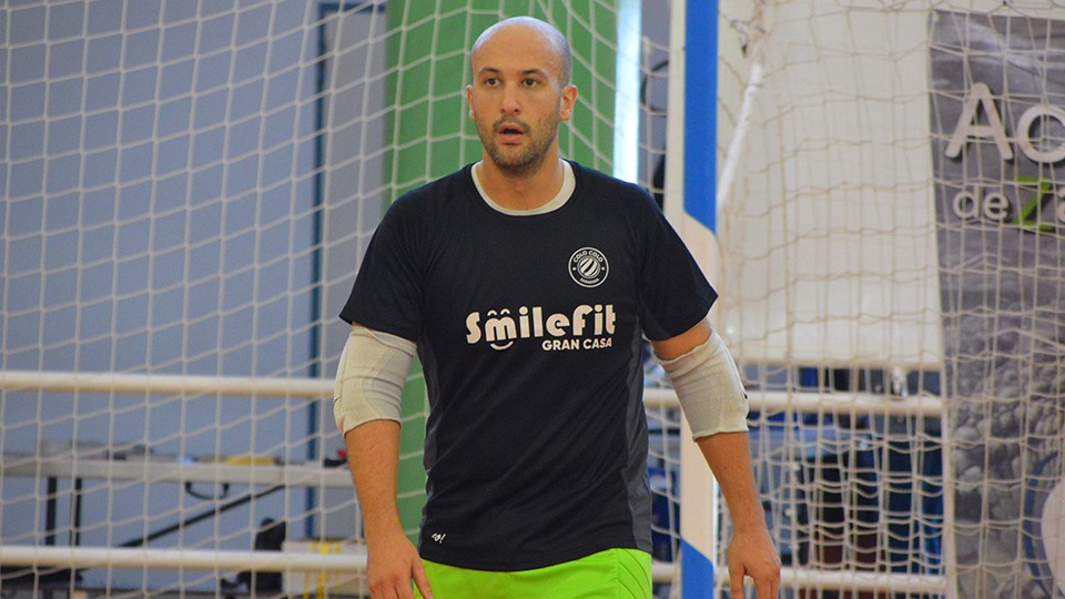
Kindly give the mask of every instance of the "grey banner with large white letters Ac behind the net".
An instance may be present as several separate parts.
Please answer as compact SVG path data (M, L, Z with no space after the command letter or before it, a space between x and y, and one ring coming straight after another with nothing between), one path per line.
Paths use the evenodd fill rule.
M931 17L957 597L1065 593L1065 21Z

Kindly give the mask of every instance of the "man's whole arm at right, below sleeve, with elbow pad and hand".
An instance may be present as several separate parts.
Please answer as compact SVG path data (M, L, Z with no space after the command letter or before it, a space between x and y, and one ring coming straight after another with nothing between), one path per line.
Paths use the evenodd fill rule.
M754 486L747 438L747 395L736 363L706 321L651 345L673 383L696 443L729 506L733 530L729 544L732 597L743 596L743 577L750 576L758 599L775 598L780 557Z

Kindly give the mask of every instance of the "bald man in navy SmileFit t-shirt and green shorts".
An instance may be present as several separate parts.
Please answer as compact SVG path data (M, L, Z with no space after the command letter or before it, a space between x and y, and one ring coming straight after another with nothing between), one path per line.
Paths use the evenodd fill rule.
M733 596L747 575L775 597L747 395L706 319L717 293L646 192L560 158L577 88L557 29L501 21L470 64L481 160L389 207L341 313L334 413L373 597L650 597L643 336L728 501ZM396 506L415 354L429 395L418 548Z

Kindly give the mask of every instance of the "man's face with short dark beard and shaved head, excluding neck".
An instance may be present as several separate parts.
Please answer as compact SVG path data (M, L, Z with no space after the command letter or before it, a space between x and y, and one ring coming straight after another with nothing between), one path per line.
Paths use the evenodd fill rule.
M509 27L471 62L466 99L487 158L504 171L535 171L557 151L558 123L569 120L577 98L576 88L560 85L561 59L537 31Z

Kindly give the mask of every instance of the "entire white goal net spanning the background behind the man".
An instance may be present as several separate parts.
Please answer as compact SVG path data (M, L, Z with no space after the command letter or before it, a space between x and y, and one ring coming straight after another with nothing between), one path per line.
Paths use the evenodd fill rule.
M564 155L665 197L678 1L0 7L0 589L365 595L329 399L384 206L479 159L467 50L516 14L574 45ZM1065 7L716 10L716 319L784 592L1061 597ZM668 597L679 413L648 375ZM416 535L417 369L404 410Z

